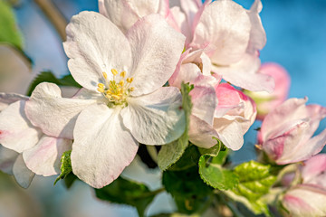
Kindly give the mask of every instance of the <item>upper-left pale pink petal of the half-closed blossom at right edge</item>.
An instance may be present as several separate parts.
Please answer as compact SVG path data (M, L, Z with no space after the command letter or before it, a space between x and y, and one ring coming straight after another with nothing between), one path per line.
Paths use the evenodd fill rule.
M265 118L261 127L263 141L283 126L289 126L298 119L307 118L305 102L307 99L288 99L276 109L273 109Z

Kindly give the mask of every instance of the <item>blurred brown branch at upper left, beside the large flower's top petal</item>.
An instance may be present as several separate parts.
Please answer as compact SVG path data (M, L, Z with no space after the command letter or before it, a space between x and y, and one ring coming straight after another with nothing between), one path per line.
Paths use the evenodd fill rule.
M62 42L64 42L66 40L65 27L67 26L67 20L58 7L51 0L34 0L34 3L40 7L43 14L49 19L60 35Z

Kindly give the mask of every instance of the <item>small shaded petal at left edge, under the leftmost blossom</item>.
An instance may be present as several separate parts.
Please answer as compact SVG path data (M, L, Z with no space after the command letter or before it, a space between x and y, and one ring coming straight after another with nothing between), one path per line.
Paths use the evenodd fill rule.
M13 175L13 166L17 156L19 153L0 145L0 170Z

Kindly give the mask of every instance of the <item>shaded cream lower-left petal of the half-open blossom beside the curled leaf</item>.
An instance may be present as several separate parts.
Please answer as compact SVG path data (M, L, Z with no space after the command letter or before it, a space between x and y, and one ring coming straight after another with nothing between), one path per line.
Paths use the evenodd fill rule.
M217 141L213 137L219 138L216 130L212 126L194 115L190 116L188 135L191 143L204 148L215 146Z

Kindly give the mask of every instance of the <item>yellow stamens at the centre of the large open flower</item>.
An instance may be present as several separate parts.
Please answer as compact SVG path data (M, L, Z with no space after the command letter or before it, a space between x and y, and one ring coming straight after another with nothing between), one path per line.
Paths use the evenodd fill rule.
M102 72L105 84L99 83L97 90L109 100L109 107L126 107L128 105L127 98L129 97L130 92L134 90L133 87L130 87L133 78L126 79L126 71L122 71L119 74L117 70L112 69L111 72L113 74L113 80L108 80L108 74Z

